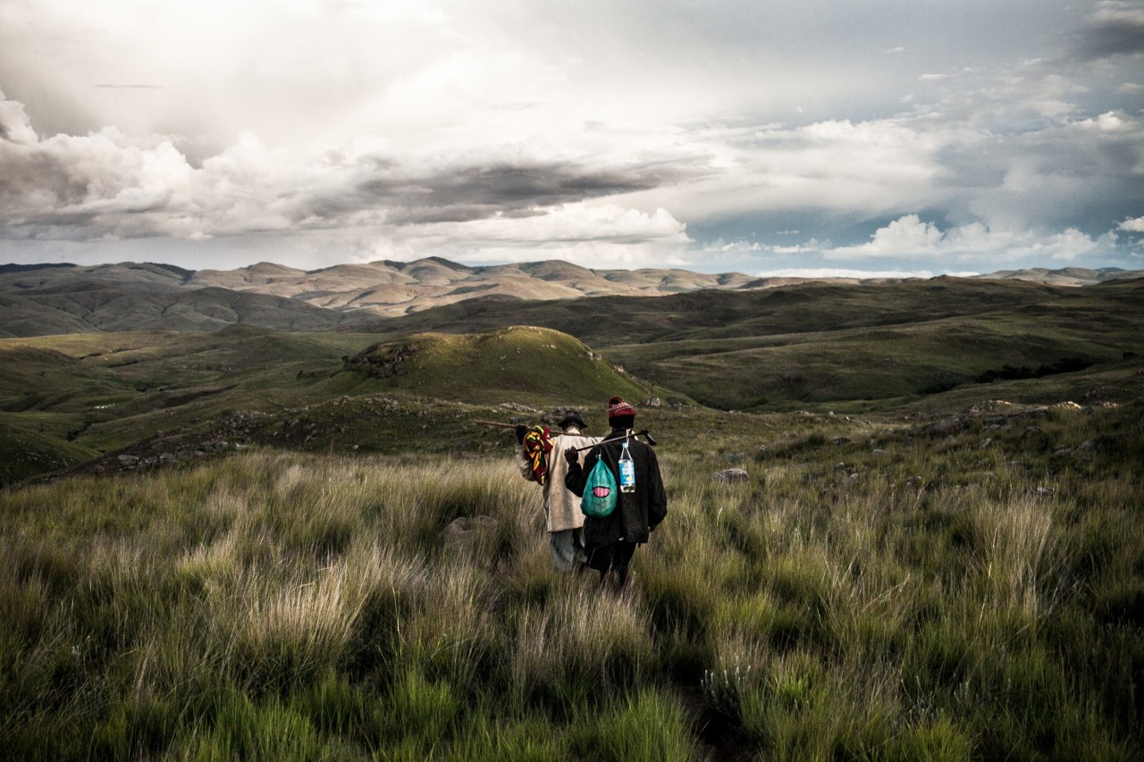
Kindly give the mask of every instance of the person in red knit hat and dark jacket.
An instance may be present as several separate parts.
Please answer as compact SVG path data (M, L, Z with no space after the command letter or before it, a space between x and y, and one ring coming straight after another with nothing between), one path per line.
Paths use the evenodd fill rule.
M667 516L667 492L659 473L659 461L651 445L635 438L631 427L636 411L619 397L607 400L607 422L611 432L583 459L575 450L564 453L569 463L564 484L578 497L583 495L588 475L603 461L622 484L620 460L625 452L633 461L634 489L621 487L615 508L604 517L587 516L583 522L583 543L588 566L599 572L601 587L622 590L628 584L628 566L636 547L648 542L651 532Z

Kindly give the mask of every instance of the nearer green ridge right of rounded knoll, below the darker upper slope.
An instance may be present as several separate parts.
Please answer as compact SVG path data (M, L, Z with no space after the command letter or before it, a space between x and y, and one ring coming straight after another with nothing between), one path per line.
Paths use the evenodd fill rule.
M1035 305L887 327L840 323L828 331L623 344L607 351L636 373L722 408L920 397L975 383L1006 365L1038 368L1065 358L1111 367L1144 354L1144 313ZM1139 367L1135 365L1134 367ZM1085 374L1064 374L1083 378Z

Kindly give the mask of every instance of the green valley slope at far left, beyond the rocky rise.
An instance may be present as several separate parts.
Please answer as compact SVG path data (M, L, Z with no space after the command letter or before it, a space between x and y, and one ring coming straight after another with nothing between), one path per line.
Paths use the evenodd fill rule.
M0 394L58 438L96 451L156 431L209 424L249 399L299 386L301 370L333 371L366 338L232 327L217 333L92 333L0 341L11 359ZM281 404L281 403L279 403ZM24 421L8 419L9 426Z

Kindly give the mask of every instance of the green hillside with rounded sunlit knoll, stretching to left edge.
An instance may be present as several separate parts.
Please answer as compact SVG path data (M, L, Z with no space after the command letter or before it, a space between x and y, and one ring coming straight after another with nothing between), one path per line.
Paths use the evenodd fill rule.
M420 334L249 326L219 332L87 333L0 340L0 439L38 455L9 478L90 457L186 460L227 443L311 451L486 450L503 431L472 420L538 421L561 405L661 396L580 341L547 328ZM597 421L602 428L602 421ZM55 445L53 450L53 445ZM37 466L39 465L39 466Z

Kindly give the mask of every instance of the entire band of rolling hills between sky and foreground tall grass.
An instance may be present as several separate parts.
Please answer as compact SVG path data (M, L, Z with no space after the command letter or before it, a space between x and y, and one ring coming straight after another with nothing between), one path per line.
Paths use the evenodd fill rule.
M996 398L1126 402L1144 388L1144 280L762 287L745 276L619 278L563 262L355 267L363 283L384 270L455 299L383 318L311 303L315 289L344 284L344 272L5 268L5 330L54 335L0 339L0 445L41 453L24 474L86 453L140 446L181 457L238 440L479 450L498 440L464 428L475 416L590 410L612 394L721 420L717 411L875 415ZM495 288L508 288L511 275L547 284L548 296L575 295L487 293L478 283L492 270L502 277ZM721 287L702 287L710 278ZM302 291L284 295L287 285ZM644 295L607 292L621 286ZM657 289L676 292L646 295ZM598 292L607 293L586 295Z

